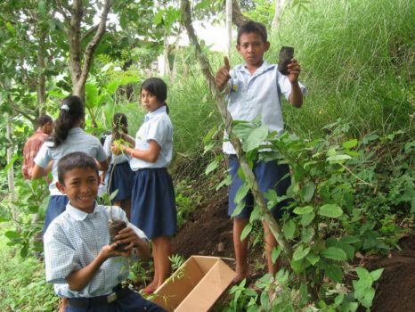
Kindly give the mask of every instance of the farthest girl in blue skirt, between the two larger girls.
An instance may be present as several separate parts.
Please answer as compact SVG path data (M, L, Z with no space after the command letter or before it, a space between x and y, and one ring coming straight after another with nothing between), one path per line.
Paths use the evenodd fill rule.
M126 217L130 219L131 192L134 180L134 171L130 168L129 163L131 157L125 154L114 155L110 149L113 141L122 138L121 134L128 134L128 121L125 114L116 113L112 117L112 133L107 135L103 144L110 162L110 169L107 172L107 187L110 194L118 190L111 202L124 209Z

